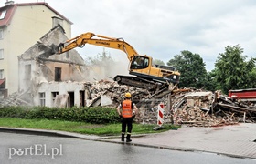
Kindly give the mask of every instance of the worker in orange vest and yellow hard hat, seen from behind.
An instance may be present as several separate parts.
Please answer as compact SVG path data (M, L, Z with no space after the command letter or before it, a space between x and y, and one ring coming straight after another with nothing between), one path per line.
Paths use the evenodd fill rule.
M133 118L135 118L136 113L138 112L138 108L131 100L132 95L130 93L124 94L125 99L123 102L118 106L117 112L122 118L122 137L121 140L124 141L124 135L127 127L127 136L126 142L131 142L131 133L133 129ZM122 109L122 112L120 111Z

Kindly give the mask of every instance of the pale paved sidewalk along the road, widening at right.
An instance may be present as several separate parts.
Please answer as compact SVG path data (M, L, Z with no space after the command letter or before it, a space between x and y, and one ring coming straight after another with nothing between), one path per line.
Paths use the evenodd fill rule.
M0 131L123 143L120 141L120 137L102 138L57 130L0 127ZM182 126L177 130L169 130L158 134L135 135L132 136L132 139L133 141L129 144L137 146L202 151L231 157L256 159L256 124L242 123L220 128L189 128Z

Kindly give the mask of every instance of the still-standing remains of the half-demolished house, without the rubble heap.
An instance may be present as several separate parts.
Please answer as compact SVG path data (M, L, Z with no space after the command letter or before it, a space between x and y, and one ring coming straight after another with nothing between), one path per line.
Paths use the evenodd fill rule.
M18 56L18 92L31 105L54 107L58 106L56 99L64 98L68 107L85 106L84 83L80 82L86 79L88 70L82 57L76 50L49 56L52 45L67 39L64 29L56 26Z

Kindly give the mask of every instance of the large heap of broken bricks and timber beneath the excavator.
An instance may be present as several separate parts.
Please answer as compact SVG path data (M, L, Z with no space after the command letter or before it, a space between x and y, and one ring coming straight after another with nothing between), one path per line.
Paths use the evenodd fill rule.
M112 108L116 108L122 102L123 93L131 92L133 101L140 109L135 118L138 123L156 124L159 103L165 104L165 123L216 127L255 121L254 118L244 118L244 115L238 115L241 111L230 113L229 108L221 108L220 104L224 104L223 98L216 97L214 93L209 91L183 88L172 92L150 92L146 89L120 86L115 82L106 81L97 82L92 87L94 91L97 88L98 96L105 94L112 99L112 105L110 105ZM104 89L101 89L102 87ZM227 102L225 103L227 104ZM231 107L234 107L234 104Z

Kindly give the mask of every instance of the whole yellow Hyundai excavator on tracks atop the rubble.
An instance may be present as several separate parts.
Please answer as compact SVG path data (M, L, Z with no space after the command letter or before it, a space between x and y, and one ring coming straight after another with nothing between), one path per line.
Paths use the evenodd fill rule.
M132 76L117 75L113 79L119 84L152 90L160 86L174 86L179 82L180 73L175 67L153 67L151 56L138 55L133 46L126 43L123 38L112 38L88 32L71 38L65 43L60 43L55 52L62 54L73 48L83 47L85 44L120 49L127 55L130 61L129 74Z

